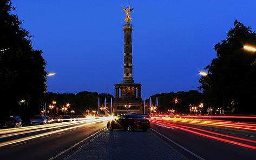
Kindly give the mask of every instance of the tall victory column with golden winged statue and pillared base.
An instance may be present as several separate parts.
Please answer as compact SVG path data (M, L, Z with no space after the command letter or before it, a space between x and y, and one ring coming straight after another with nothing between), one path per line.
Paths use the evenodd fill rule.
M124 59L123 59L123 82L115 85L114 113L142 113L141 84L135 84L133 80L133 52L132 52L132 31L130 24L132 18L130 12L133 8L122 8L126 12L123 25L124 32Z

